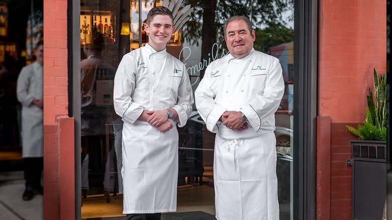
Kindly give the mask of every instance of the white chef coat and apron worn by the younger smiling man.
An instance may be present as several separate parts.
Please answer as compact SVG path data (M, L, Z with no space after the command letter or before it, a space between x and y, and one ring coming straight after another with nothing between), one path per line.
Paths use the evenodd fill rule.
M183 127L192 104L185 65L166 49L157 52L147 43L124 55L114 83L115 111L124 122L124 214L176 211L177 130L161 133L137 119L143 109L174 108Z

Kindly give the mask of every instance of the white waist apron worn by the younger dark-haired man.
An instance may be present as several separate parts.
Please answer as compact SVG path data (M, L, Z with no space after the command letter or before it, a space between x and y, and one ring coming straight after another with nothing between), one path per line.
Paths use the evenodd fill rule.
M177 175L175 127L161 133L146 122L124 123L124 213L176 211Z

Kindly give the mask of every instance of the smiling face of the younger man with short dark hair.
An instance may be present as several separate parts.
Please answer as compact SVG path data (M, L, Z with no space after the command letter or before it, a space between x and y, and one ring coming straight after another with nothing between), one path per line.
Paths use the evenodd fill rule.
M148 33L148 43L156 51L160 51L165 49L167 42L170 41L174 31L173 21L170 16L156 15L150 24L144 25L144 30Z

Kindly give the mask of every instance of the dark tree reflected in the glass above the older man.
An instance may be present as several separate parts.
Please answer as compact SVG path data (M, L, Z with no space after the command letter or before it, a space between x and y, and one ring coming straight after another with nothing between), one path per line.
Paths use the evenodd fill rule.
M251 18L255 27L268 24L286 25L285 12L292 12L294 0L186 0L185 5L193 7L191 19L183 27L184 39L190 44L202 43L201 60L209 59L213 44L224 45L223 24L225 19L244 15ZM288 16L293 20L293 13ZM201 71L201 78L204 70Z

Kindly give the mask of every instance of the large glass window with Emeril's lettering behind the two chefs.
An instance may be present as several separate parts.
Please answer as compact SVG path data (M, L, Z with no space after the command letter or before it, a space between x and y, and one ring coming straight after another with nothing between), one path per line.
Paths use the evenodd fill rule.
M191 19L171 36L167 51L181 60L193 91L208 64L228 53L223 39L224 19L243 13L251 16L256 31L254 48L279 58L285 92L275 114L278 199L280 219L290 219L292 210L292 97L293 97L293 7L292 1L277 7L238 1L191 2ZM113 80L124 54L148 42L144 22L150 9L162 1L80 1L81 67L81 180L82 218L121 216L122 125L114 112ZM183 5L183 6L184 6ZM268 11L272 7L275 11ZM249 13L251 12L251 14ZM282 18L280 18L280 16ZM195 107L187 124L177 128L177 212L201 211L215 215L214 142Z

